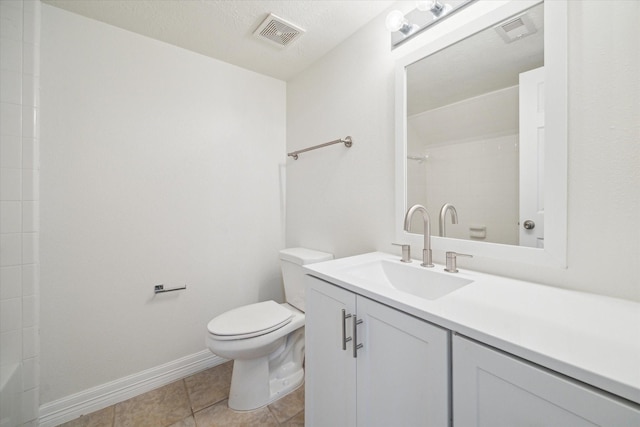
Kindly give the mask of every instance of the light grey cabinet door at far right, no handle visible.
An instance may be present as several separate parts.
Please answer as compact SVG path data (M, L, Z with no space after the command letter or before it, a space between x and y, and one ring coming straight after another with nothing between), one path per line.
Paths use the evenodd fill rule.
M639 426L638 407L521 359L453 337L453 423Z

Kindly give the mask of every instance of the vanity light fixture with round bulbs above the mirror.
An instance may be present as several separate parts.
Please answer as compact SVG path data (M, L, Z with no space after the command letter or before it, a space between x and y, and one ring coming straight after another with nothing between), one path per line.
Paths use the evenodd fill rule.
M391 49L473 1L475 0L422 0L417 1L416 9L406 15L399 10L389 12L385 24L391 32Z

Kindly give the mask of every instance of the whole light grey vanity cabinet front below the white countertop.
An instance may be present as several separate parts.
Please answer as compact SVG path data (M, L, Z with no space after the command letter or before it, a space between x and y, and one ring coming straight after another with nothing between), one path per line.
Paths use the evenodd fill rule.
M307 426L640 426L636 403L305 280Z

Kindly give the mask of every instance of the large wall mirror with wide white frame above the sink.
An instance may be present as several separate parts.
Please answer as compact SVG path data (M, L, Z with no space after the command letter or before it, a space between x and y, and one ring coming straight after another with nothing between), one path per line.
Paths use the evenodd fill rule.
M396 234L421 204L434 250L566 266L566 2L472 15L398 62Z

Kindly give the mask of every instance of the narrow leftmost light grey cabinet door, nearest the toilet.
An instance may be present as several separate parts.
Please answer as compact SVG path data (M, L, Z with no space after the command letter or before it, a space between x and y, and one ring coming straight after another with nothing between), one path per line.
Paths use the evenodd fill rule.
M356 359L352 342L342 348L342 310L355 314L356 296L311 276L305 280L305 425L355 426Z

